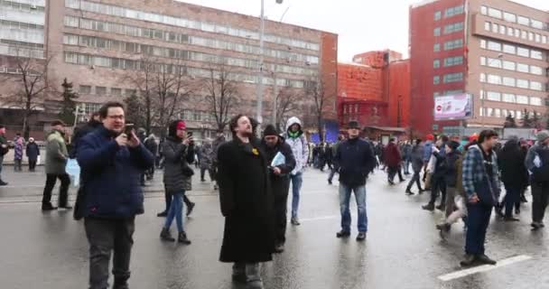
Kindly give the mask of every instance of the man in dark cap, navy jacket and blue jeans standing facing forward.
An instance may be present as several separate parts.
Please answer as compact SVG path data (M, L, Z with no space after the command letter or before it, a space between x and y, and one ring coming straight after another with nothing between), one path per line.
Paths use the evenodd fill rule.
M335 160L340 172L340 212L341 230L337 238L350 236L349 201L351 192L355 192L358 207L358 241L366 239L368 215L366 211L366 180L376 167L376 157L368 142L361 140L358 122L349 122L349 139L338 146Z

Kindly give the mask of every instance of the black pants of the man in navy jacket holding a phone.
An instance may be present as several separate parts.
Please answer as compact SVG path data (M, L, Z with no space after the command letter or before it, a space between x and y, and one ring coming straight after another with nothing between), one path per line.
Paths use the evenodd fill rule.
M113 256L113 289L127 289L130 256L134 245L135 218L84 219L89 243L89 289L108 288L108 266Z

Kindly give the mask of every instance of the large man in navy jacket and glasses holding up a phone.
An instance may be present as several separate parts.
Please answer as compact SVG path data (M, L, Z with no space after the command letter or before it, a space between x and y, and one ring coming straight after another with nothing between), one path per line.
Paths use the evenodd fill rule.
M108 288L113 256L114 289L128 288L135 216L144 213L141 172L154 155L135 132L124 133L124 105L107 102L99 109L103 126L79 141L77 161L84 186L84 228L89 244L89 288Z

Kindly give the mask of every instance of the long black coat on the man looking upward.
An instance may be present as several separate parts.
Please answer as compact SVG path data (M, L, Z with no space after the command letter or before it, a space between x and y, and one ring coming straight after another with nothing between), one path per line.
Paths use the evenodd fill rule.
M257 263L272 260L275 249L273 197L265 152L237 137L218 151L219 200L225 216L221 262Z

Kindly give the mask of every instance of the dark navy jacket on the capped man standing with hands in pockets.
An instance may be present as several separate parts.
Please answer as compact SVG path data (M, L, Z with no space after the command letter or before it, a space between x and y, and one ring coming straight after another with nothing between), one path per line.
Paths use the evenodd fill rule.
M340 169L340 182L349 187L365 185L377 163L372 147L361 139L349 139L338 145L335 161Z

